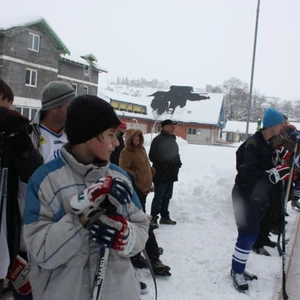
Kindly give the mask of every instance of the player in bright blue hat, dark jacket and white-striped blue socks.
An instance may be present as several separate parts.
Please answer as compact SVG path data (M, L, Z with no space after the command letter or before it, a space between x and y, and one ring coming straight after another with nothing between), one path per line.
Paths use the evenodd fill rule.
M231 276L239 291L248 290L246 280L257 279L247 271L246 263L259 233L259 223L270 204L270 188L280 180L287 180L288 165L274 167L275 151L271 138L280 133L283 116L268 108L263 128L247 139L236 152L237 175L232 190L234 216L238 238L232 256Z

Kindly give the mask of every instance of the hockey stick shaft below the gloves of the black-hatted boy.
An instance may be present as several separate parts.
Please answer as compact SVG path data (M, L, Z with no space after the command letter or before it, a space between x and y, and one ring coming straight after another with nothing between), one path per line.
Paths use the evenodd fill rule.
M103 281L108 261L109 249L100 247L93 284L93 300L100 300L103 292Z

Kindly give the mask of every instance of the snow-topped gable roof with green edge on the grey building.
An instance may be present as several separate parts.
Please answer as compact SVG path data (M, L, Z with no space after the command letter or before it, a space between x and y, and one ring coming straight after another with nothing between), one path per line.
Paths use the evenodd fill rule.
M69 49L66 45L61 41L61 39L54 32L52 27L48 24L48 22L42 17L31 17L25 18L23 20L18 19L18 21L10 20L6 22L0 21L0 33L5 33L10 30L22 27L28 27L31 25L39 25L47 34L52 43L56 46L58 51L62 54L70 54Z

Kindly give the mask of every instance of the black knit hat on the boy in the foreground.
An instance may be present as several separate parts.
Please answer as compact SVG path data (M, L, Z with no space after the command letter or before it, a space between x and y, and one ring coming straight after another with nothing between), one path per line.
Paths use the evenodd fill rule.
M68 106L65 131L70 144L81 144L121 124L113 107L93 95L75 97Z

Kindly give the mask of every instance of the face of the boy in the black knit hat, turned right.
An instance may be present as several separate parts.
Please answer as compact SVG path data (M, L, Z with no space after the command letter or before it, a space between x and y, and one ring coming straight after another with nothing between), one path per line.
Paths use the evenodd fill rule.
M117 128L109 128L91 140L90 151L95 158L108 161L111 153L119 146Z

